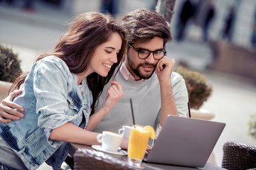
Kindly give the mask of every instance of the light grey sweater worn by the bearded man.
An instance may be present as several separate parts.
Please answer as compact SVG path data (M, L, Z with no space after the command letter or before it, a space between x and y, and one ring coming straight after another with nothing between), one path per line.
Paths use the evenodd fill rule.
M110 113L95 128L95 132L103 130L117 132L122 125L132 125L132 110L129 98L132 98L135 123L137 125L151 125L156 127L156 118L161 108L161 95L159 79L154 73L152 77L146 81L125 80L119 71L116 77L117 81L122 84L124 96L112 108ZM180 116L186 116L188 109L188 91L186 84L180 74L172 72L171 86L174 94L174 100ZM110 83L103 89L99 98L99 103L95 111L97 112L105 101L107 89Z

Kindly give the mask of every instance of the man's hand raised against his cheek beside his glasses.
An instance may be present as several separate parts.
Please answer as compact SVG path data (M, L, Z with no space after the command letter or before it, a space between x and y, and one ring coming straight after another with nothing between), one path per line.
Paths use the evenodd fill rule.
M169 57L164 56L159 62L156 64L156 75L159 79L159 82L170 80L171 72L174 69L175 60Z

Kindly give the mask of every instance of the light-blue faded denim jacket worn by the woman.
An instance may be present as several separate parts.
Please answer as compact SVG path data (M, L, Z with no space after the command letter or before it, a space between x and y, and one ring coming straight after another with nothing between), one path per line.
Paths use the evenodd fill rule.
M47 162L60 169L68 155L66 142L50 140L50 133L65 123L79 126L82 114L85 126L92 106L92 92L84 79L79 89L78 77L58 57L36 62L14 102L23 106L24 118L0 123L0 135L16 152L28 169Z

